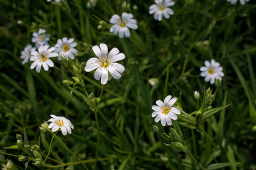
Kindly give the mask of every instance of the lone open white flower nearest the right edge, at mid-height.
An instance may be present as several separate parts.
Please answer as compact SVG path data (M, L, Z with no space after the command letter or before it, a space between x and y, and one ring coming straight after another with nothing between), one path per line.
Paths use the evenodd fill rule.
M210 81L211 84L215 82L215 79L222 79L221 77L224 76L222 72L223 67L220 66L219 62L216 62L214 59L211 59L210 62L208 60L204 61L205 66L200 67L201 76L205 76L204 81Z

